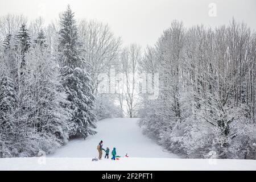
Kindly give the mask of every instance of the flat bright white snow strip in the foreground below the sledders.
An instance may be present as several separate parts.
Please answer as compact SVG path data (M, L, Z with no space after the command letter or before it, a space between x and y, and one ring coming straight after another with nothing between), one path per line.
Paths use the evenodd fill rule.
M121 158L92 162L90 158L1 159L0 170L256 170L254 160Z

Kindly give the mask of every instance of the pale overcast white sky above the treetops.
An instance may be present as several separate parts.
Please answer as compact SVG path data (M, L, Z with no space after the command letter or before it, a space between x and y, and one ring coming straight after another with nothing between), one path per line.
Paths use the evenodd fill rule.
M217 16L209 16L210 3L216 3ZM43 16L46 24L71 5L77 19L97 19L108 23L125 45L154 44L172 20L218 26L229 23L232 16L256 30L255 0L0 0L0 16L24 14L28 19Z

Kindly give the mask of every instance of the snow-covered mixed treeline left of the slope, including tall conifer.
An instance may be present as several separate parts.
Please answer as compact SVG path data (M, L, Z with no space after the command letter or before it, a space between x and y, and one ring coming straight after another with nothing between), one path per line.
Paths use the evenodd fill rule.
M47 27L42 18L28 24L22 15L2 16L1 37L0 158L55 151L95 134L97 119L115 117L112 98L97 93L98 74L121 46L108 25L76 22L68 6Z

